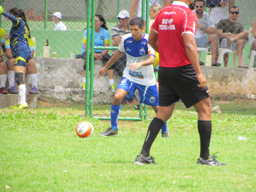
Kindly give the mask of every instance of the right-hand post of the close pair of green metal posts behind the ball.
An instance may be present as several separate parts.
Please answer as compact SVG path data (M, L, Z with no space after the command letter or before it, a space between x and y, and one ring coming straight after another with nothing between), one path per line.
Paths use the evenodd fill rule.
M94 21L95 19L95 0L91 1L91 73L90 73L90 117L93 117L93 74L94 74ZM90 29L90 28L89 28ZM88 41L88 40L87 40ZM87 87L87 72L89 75L89 65L87 70L86 65L86 87ZM88 84L89 85L89 84Z

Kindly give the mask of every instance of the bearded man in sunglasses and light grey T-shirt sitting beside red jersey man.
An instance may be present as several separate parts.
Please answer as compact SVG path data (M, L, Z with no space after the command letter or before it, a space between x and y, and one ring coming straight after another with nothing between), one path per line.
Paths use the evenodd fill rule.
M218 36L213 24L213 20L209 14L204 12L204 0L195 0L195 9L193 10L197 17L196 23L196 46L210 47L212 54L212 66L219 67L221 64L217 63L218 54ZM204 65L202 61L200 65Z

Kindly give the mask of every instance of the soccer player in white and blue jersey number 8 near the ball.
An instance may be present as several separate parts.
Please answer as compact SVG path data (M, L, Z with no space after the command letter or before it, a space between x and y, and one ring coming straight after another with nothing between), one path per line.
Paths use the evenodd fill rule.
M155 51L147 44L148 34L143 33L145 29L144 20L136 17L132 18L129 23L131 33L121 38L118 50L99 71L99 76L103 76L106 70L126 53L126 68L111 105L111 127L100 134L104 137L117 135L117 121L121 110L121 101L124 97L132 98L136 89L139 91L140 103L151 105L155 113L158 111L158 93L152 65L155 62ZM169 137L166 123L162 129L165 131L162 137Z

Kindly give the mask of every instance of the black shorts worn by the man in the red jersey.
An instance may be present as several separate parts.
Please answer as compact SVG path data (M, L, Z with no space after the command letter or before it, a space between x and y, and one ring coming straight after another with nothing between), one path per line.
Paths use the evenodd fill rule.
M180 99L187 108L210 97L208 87L202 90L194 67L159 67L159 106L167 107Z

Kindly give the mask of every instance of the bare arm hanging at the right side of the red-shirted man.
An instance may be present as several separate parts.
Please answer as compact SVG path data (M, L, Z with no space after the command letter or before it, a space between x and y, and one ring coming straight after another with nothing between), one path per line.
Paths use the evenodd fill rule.
M200 69L198 57L197 57L197 46L195 37L190 33L183 33L182 34L186 52L188 54L188 59L195 68L197 79L199 80L200 84L198 85L202 90L206 87L206 79L204 78L202 71Z

